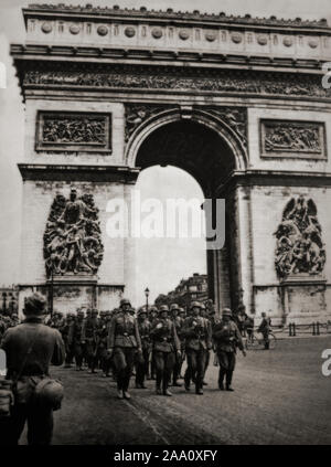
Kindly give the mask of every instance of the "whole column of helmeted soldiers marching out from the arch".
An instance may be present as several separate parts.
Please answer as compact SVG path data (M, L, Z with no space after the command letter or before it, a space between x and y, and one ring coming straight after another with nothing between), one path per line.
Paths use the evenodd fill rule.
M181 386L180 379L184 380L188 392L193 383L195 393L203 394L212 349L214 362L220 365L218 388L233 391L236 349L245 354L241 331L233 318L232 311L225 308L222 319L216 319L214 308L206 309L199 301L193 301L188 311L172 304L170 309L167 305L141 307L136 314L130 301L124 298L113 311L79 309L65 317L55 312L46 323L62 335L65 368L75 362L77 371L102 370L104 378L111 373L117 381L118 397L130 399L128 389L132 375L137 389L147 389L146 380L156 380L156 392L160 395L171 396L169 386ZM182 376L185 359L186 370Z

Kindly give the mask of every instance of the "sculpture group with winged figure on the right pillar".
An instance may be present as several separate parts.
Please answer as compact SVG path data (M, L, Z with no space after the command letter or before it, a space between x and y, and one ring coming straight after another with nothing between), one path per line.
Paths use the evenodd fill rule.
M277 232L275 266L281 279L295 274L318 275L325 264L325 246L312 200L293 198L287 203Z

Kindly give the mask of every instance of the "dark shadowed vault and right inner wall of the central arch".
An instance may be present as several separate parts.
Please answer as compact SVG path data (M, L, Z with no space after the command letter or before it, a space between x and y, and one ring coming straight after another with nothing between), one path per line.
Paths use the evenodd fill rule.
M210 127L195 118L154 124L152 130L146 131L143 137L138 132L136 138L140 141L131 158L134 166L141 170L152 166L182 169L196 180L204 199L217 198L218 188L234 170L241 168L238 150L236 152L213 125ZM226 204L229 210L234 208L231 199L226 200ZM235 246L228 240L228 227L225 227L225 246L218 251L206 248L209 298L214 300L217 310L236 301L233 299L236 286L231 278L231 269L236 268L231 265Z

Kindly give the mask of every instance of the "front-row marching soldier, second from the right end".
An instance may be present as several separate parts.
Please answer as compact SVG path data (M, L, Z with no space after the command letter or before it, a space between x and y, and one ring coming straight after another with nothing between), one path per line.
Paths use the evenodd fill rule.
M191 380L195 382L195 393L203 394L203 376L205 370L206 352L212 348L212 332L206 318L200 316L201 304L193 301L191 316L183 325L185 336L185 351L188 369L184 375L185 390L190 391Z

